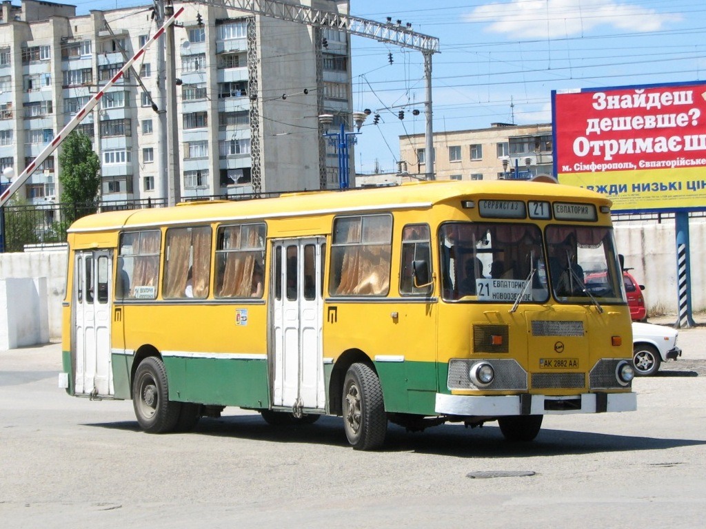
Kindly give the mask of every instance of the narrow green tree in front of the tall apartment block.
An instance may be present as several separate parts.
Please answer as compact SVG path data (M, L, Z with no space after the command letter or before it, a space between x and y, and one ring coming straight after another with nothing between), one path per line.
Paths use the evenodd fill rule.
M90 138L72 132L61 142L59 153L61 202L66 206L64 218L75 221L98 209L100 189L100 159Z

